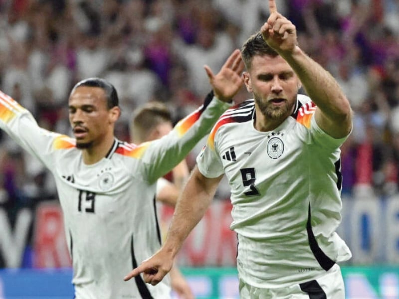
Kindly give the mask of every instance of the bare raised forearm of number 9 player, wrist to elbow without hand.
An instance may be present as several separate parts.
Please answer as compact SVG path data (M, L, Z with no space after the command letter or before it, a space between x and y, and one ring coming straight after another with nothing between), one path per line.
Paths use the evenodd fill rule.
M346 118L350 104L334 77L298 46L291 53L281 53L298 75L303 87L319 109L331 119Z

